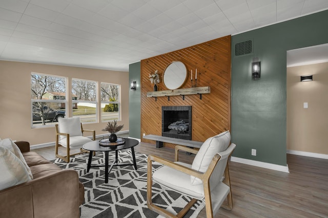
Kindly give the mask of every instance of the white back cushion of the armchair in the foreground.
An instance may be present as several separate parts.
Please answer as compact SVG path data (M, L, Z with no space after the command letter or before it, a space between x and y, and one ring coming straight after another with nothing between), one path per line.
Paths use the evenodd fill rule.
M217 136L208 138L200 147L197 155L194 158L192 169L200 172L206 172L212 158L218 152L226 150L230 144L231 135L229 131L220 133ZM191 176L191 183L193 185L202 184L201 180Z

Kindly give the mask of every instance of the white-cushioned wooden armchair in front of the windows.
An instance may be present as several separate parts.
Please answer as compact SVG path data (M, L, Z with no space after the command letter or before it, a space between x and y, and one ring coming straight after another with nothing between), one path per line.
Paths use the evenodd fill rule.
M70 162L70 156L78 155L86 150L82 149L82 146L85 143L91 142L92 140L96 140L96 132L95 130L83 129L79 117L73 118L59 118L58 124L55 125L56 128L56 148L55 155L57 158L64 160L65 162ZM91 132L93 139L89 139L83 136L84 132ZM58 148L60 146L66 147L67 155L61 156L58 154ZM75 154L70 154L70 150L80 149L79 152Z

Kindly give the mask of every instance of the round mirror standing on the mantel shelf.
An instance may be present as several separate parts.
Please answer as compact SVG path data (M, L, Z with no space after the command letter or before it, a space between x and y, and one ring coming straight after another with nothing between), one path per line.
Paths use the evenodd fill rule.
M179 89L187 80L187 68L181 61L168 65L163 73L163 83L169 90Z

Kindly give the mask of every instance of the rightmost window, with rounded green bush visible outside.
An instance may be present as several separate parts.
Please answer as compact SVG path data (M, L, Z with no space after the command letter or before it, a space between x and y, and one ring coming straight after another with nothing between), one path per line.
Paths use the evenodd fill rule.
M120 85L101 82L101 122L120 120Z

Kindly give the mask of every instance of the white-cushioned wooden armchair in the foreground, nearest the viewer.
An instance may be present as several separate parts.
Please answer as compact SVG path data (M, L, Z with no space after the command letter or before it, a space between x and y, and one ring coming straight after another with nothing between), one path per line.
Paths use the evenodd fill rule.
M199 151L192 148L176 146L175 162L157 156L148 156L147 205L165 217L182 217L189 209L201 200L205 202L207 217L214 214L221 207L232 209L232 195L228 169L228 159L235 149L230 144L229 131L207 139ZM178 151L185 150L196 154L192 164L178 161ZM164 166L152 172L152 162L156 161ZM193 198L178 214L160 208L152 202L153 181L161 186L188 195ZM227 203L223 205L224 200Z

